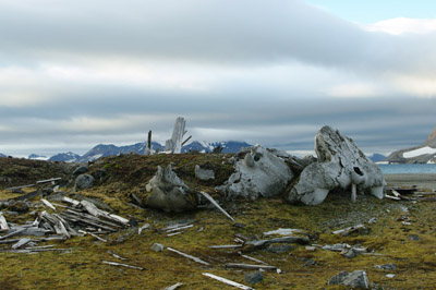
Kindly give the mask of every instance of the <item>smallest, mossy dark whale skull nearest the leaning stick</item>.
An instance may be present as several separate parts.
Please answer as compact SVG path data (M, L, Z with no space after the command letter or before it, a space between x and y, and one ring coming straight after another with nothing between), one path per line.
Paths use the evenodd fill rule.
M149 207L166 212L184 212L197 206L196 194L172 171L171 165L166 169L158 166L146 190L149 194L145 204Z

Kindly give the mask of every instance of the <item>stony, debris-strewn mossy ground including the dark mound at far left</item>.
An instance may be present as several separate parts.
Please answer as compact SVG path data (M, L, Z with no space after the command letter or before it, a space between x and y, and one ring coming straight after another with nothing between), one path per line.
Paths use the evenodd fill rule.
M353 286L328 285L343 270L365 271L370 289L436 288L433 177L386 177L389 186L419 188L417 194L404 195L409 201L359 195L353 204L350 193L338 192L318 206L293 206L280 196L226 202L214 189L233 172L231 157L183 154L101 158L87 166L86 173L95 180L86 189L74 186L78 172L73 172L80 165L0 158L0 210L10 226L31 225L43 212L62 216L69 209L65 207L90 215L82 205L62 202L64 196L89 201L99 210L129 220L128 226L114 231L94 233L93 227L70 222L72 230L85 233L51 241L47 238L60 234L8 238L8 231L0 231L0 288L165 289L182 283L178 289L235 289L204 275L207 273L254 289L350 289ZM145 185L158 165L170 162L190 188L209 193L235 222L204 200L201 208L189 213L144 208L135 196L141 200L146 194ZM196 165L214 170L216 178L197 180ZM51 178L61 179L56 184L36 184ZM35 186L22 193L7 190L26 184ZM334 233L358 225L362 227ZM265 234L280 228L301 231ZM24 238L32 241L16 245ZM8 242L12 240L15 242ZM234 247L210 247L214 245ZM262 262L271 267L263 271L234 268L234 263L264 265ZM336 280L341 280L342 276L338 277Z

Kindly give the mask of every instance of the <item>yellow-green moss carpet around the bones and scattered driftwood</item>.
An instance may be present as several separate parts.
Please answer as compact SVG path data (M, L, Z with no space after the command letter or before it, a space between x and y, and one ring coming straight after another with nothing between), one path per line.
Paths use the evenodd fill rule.
M256 239L263 232L278 228L305 230L312 243L360 244L374 251L375 255L358 255L347 258L337 252L317 249L307 251L296 245L291 252L276 254L255 251L249 255L279 267L283 273L264 273L264 280L253 286L256 289L342 289L327 286L330 277L341 270L366 270L370 281L379 289L436 289L436 203L378 201L371 196L359 196L356 204L350 203L348 194L330 194L319 206L292 206L280 198L239 201L225 204L225 208L244 227L235 227L215 209L192 213L168 214L155 209L138 209L128 203L132 192L141 193L144 184L156 171L157 165L174 164L175 172L192 186L208 192L228 178L231 166L222 164L228 156L181 155L181 156L122 156L99 160L90 171L105 169L107 176L98 186L81 194L99 197L117 214L133 216L140 225L150 223L141 235L137 229L125 229L108 234L108 243L93 237L78 237L64 242L52 242L57 247L72 252L47 252L38 254L0 253L0 289L161 289L183 282L180 289L235 289L202 275L211 273L228 279L244 282L244 271L225 269L226 263L252 263L234 251L211 250L209 245L233 244L239 233ZM194 179L195 164L209 161L218 172L218 181L198 183ZM119 165L119 166L117 166ZM5 196L0 193L0 200ZM215 194L217 200L220 195ZM404 213L405 206L409 213ZM400 218L408 216L411 226L403 226ZM334 235L332 230L366 222L370 230L349 237ZM7 219L13 217L7 216ZM191 221L194 227L183 233L167 237L159 229L170 222ZM410 239L416 234L420 241ZM179 256L168 250L154 252L150 246L161 243L197 256L211 266ZM0 247L5 247L1 245ZM111 251L129 261L118 261ZM307 259L317 263L304 266ZM144 267L145 270L116 267L101 261L114 261ZM375 265L396 263L396 270L375 269ZM386 274L395 274L387 278ZM347 288L343 288L347 289Z

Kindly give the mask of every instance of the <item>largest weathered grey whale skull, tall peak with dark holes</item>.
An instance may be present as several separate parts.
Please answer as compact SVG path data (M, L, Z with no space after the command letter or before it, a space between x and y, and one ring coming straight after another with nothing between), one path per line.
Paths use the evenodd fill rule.
M317 161L305 167L295 185L286 193L289 203L317 205L336 189L353 189L353 201L356 192L383 198L386 182L380 168L351 138L324 126L316 134L315 152Z

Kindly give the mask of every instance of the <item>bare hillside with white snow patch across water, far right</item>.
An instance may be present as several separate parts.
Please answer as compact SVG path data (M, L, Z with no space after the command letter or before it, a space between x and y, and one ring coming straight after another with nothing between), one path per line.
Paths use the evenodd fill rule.
M395 164L436 164L436 128L420 146L391 153L386 161Z

